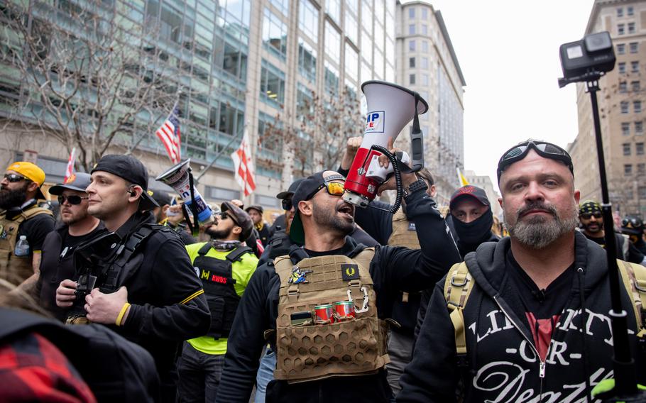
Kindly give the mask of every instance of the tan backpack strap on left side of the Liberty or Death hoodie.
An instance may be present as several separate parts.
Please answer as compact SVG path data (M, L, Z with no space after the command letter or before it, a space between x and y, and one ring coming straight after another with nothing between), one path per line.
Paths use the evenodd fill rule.
M471 289L473 289L473 277L469 267L466 267L464 262L456 263L444 280L444 299L447 300L449 316L455 330L455 347L460 366L466 365L466 329L463 311Z

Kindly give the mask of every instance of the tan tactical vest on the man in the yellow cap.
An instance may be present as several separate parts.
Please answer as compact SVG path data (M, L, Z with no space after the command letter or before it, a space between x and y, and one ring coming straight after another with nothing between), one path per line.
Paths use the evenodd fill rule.
M18 241L18 227L20 224L33 216L38 216L38 214L54 215L48 209L35 206L26 211L21 211L13 220L6 218L6 212L0 214L0 278L19 284L22 280L33 275L32 254L18 257L13 255L13 250L16 248L16 242Z

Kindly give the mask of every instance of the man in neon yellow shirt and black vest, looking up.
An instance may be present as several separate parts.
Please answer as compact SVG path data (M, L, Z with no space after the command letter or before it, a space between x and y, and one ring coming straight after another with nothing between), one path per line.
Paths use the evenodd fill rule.
M204 285L211 309L211 328L206 336L184 343L177 364L180 402L215 400L231 324L240 297L258 264L258 258L244 243L252 228L251 217L225 201L214 223L204 228L212 240L186 247Z

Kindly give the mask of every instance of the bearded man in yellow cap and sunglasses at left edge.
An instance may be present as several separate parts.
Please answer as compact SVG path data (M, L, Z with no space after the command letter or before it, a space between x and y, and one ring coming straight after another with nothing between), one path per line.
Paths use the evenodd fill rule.
M45 172L24 161L9 165L0 181L0 278L16 285L38 272L43 241L54 229L52 211L36 206L45 199L43 182ZM16 254L22 236L28 249Z

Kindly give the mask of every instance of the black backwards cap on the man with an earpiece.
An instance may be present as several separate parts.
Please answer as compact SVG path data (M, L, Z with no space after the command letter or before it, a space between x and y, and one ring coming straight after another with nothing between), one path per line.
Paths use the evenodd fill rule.
M118 177L124 178L131 184L141 186L140 210L152 210L159 207L157 201L148 193L148 171L140 160L132 155L109 154L104 155L97 165L94 165L91 174L97 171L109 172Z

